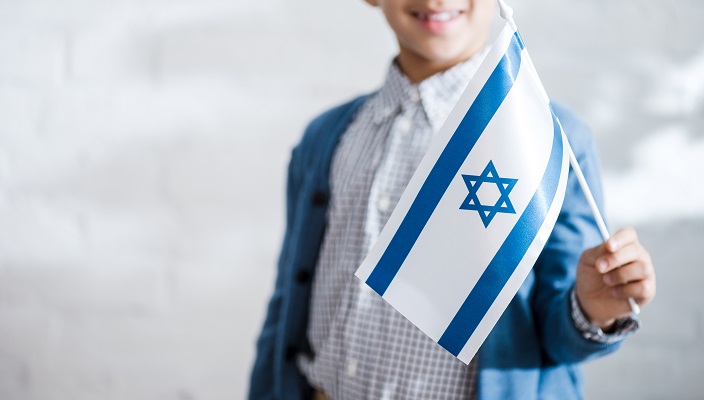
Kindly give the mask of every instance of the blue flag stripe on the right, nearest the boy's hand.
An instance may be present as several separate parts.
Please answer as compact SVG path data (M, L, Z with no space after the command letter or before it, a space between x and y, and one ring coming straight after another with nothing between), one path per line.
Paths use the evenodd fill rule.
M489 307L494 303L523 259L528 247L543 225L545 216L555 198L560 181L563 150L562 131L554 114L552 120L555 133L550 160L538 189L438 341L438 344L455 357L462 351L469 337L477 329Z

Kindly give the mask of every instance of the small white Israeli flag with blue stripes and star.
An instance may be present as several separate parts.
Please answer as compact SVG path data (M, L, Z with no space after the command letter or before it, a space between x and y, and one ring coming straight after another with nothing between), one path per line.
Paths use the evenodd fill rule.
M469 363L550 236L568 151L507 25L355 275Z

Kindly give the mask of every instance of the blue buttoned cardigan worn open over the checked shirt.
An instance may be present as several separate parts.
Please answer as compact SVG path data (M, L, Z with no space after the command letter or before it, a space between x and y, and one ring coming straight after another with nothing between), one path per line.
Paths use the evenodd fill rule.
M314 119L294 148L287 184L287 220L274 294L257 341L249 399L310 399L312 388L296 367L310 352L308 305L325 232L329 169L340 136L367 97ZM553 104L565 134L602 203L591 133L574 114ZM601 241L572 171L557 224L528 278L479 350L478 398L579 399L579 363L616 350L620 342L585 339L570 314L570 290L582 251Z

